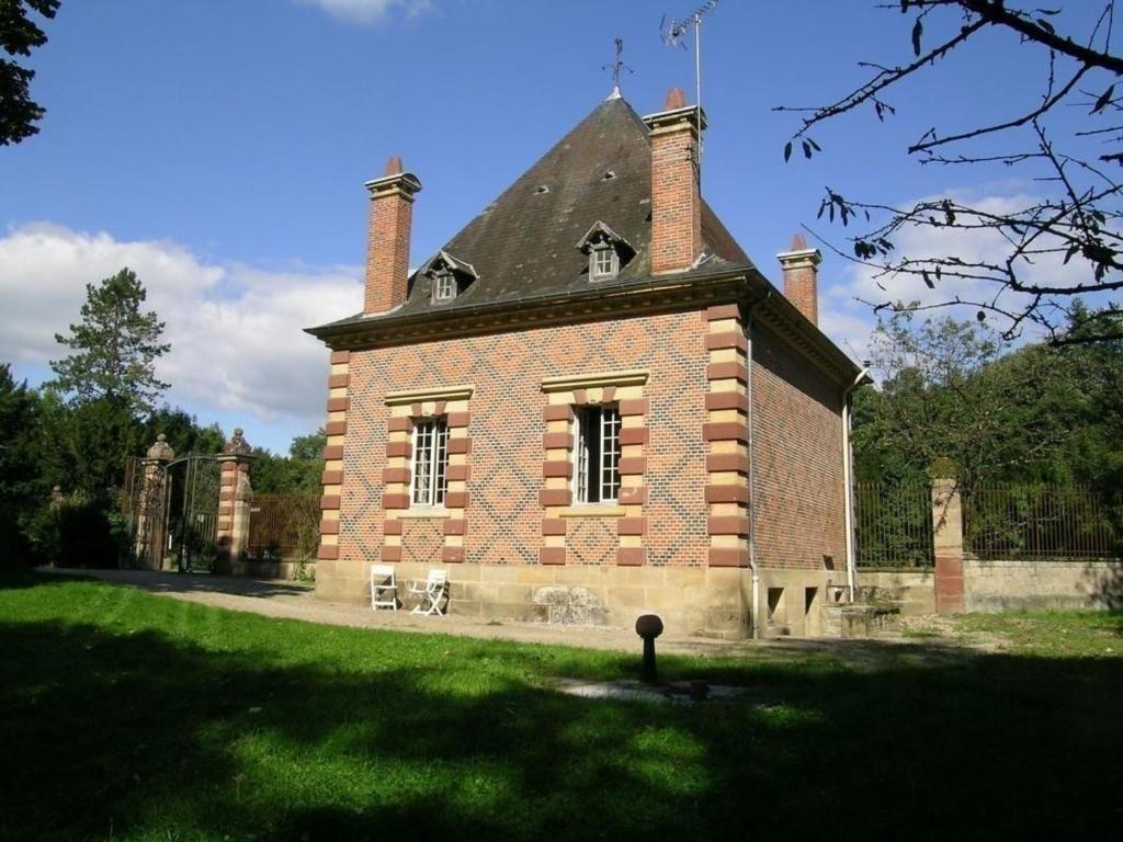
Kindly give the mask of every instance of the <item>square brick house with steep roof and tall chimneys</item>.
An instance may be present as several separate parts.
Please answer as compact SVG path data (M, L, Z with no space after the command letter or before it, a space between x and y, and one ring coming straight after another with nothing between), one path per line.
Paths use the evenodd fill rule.
M391 158L366 184L363 312L309 331L320 596L394 562L447 568L453 612L578 594L615 625L816 632L858 368L816 327L819 253L779 255L782 294L701 198L705 125L681 91L643 118L614 93L412 274L419 180Z

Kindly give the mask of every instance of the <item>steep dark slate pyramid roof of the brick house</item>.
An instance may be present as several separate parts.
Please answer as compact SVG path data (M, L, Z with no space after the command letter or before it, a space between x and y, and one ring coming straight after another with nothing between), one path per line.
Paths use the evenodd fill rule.
M611 173L611 175L610 175ZM431 278L417 272L405 303L331 326L389 322L424 312L587 291L588 258L575 244L601 221L636 249L613 287L650 281L651 146L647 126L622 98L605 100L523 173L459 234L441 246L477 274L450 302L435 304ZM702 238L712 253L696 272L752 268L748 256L702 203ZM429 264L426 255L420 264ZM683 273L688 275L692 273ZM597 285L601 285L600 283ZM313 329L312 332L319 329Z

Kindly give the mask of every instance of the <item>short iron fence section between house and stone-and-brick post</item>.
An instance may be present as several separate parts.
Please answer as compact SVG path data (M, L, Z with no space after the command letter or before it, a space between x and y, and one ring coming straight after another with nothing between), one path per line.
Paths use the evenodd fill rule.
M928 485L855 485L859 567L931 567L932 489Z

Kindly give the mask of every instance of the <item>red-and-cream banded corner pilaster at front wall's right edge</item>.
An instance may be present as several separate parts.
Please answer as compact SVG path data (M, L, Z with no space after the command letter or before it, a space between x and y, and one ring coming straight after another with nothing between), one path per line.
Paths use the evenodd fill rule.
M705 395L705 488L711 567L749 564L748 342L737 304L703 313L710 361Z

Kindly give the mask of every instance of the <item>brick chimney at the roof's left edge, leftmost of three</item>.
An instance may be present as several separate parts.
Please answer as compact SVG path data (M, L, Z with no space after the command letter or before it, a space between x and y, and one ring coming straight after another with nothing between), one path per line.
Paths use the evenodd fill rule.
M421 182L413 173L403 172L402 159L392 155L382 177L364 186L371 191L371 222L363 312L384 313L405 302L413 194L421 190Z

